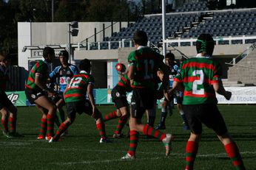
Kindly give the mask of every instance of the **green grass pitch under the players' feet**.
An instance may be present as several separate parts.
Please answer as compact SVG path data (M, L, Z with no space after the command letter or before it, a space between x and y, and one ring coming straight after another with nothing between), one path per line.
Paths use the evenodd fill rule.
M256 169L256 105L219 105L229 132L237 142L247 169ZM115 108L100 106L103 114ZM138 143L136 160L121 160L129 148L129 139L112 139L112 144L99 144L95 122L87 115L77 116L62 141L49 144L36 139L41 114L35 107L18 107L18 132L24 138L7 139L0 136L0 169L184 169L185 146L189 131L182 130L181 117L175 107L174 114L166 118L165 132L175 135L173 151L165 157L164 146L156 139L144 135ZM155 124L158 123L158 110ZM106 123L111 138L117 120ZM55 127L56 130L56 127ZM124 134L127 127L124 128ZM203 129L203 138L195 161L196 170L234 169L222 144L212 130Z

